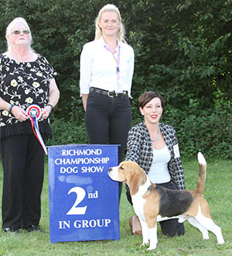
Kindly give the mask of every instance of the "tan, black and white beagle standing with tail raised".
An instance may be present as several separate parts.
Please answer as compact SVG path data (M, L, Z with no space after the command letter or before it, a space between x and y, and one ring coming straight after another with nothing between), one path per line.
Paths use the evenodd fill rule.
M142 226L142 245L148 244L148 250L156 248L157 224L162 220L178 218L179 223L188 220L203 234L203 239L209 239L208 230L217 237L217 243L223 244L223 236L210 216L210 208L203 198L206 182L206 160L198 153L200 165L199 178L195 190L171 190L152 184L145 171L133 161L123 161L118 166L108 169L112 180L125 182L131 192L135 213Z

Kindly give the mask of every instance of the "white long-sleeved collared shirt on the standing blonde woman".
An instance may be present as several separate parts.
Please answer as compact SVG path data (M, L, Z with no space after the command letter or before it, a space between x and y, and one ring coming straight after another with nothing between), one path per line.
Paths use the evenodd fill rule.
M120 46L119 80L117 75L118 47L116 54L106 49L101 36L99 40L86 43L80 55L80 95L88 94L90 87L107 91L128 91L131 96L131 83L134 72L134 50L127 43L118 41Z

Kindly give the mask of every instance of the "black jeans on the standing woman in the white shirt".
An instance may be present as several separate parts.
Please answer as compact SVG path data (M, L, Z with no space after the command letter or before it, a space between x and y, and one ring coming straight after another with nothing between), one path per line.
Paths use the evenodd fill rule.
M131 129L131 104L128 95L109 97L90 92L85 112L85 125L90 144L120 144L118 163L122 161ZM119 182L121 195L121 182Z

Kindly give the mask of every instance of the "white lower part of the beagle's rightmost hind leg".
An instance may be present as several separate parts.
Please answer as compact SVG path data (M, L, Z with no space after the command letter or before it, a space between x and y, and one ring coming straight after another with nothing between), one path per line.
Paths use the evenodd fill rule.
M221 234L221 229L218 227L212 219L206 218L205 216L196 216L196 220L205 227L207 230L210 230L217 237L217 244L224 244L223 235Z

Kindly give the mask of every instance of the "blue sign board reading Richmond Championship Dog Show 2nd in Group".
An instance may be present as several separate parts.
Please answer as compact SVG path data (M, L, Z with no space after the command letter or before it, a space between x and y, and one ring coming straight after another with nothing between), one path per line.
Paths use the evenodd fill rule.
M48 157L51 243L119 240L118 182L107 175L118 145L51 146Z

